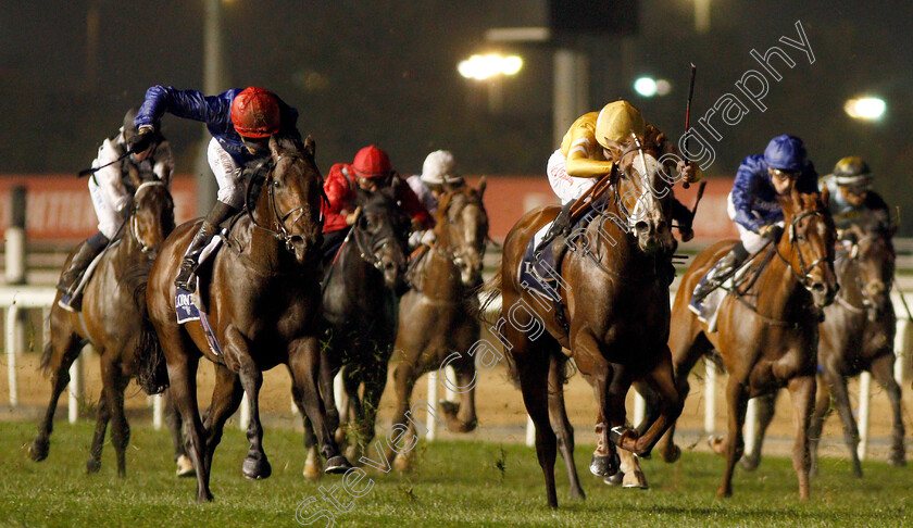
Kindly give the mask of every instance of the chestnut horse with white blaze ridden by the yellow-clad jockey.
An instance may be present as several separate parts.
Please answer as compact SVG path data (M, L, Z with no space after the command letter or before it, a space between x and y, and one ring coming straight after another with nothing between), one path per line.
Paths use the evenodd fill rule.
M670 222L675 180L658 161L662 139L658 134L633 137L612 149L617 171L592 189L593 198L608 189L608 199L593 199L593 219L568 238L566 256L554 273L556 309L552 297L521 282L520 266L530 238L554 218L558 208L534 210L516 223L504 241L501 269L486 285L489 291L501 290L502 315L493 331L506 349L536 426L536 453L550 507L558 507L558 498L549 390L550 385L560 390L562 384L549 384L549 378L553 359L563 357L562 348L595 388L599 406L598 448L590 463L595 475L608 477L618 470L616 444L637 455L649 454L681 412L666 344L668 269L676 246ZM555 317L556 312L561 317ZM625 395L636 380L662 394L655 419L639 431L625 423ZM567 429L561 427L560 432ZM562 439L562 445L573 448L573 439Z

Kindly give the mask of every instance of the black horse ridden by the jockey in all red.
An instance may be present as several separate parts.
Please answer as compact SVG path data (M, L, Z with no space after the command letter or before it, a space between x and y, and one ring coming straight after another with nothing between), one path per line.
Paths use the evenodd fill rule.
M341 422L345 425L338 440L342 440L342 431L354 436L347 451L352 460L358 460L374 439L377 407L387 385L387 363L397 336L399 296L405 288L410 222L397 203L398 185L403 184L395 183L370 194L358 190L358 218L334 262L326 266L322 285L326 340L321 355L321 387L330 429ZM333 381L340 369L348 397L341 413L333 399ZM361 386L364 393L359 397ZM314 477L317 458L312 423L305 419L304 428L309 447L304 473Z

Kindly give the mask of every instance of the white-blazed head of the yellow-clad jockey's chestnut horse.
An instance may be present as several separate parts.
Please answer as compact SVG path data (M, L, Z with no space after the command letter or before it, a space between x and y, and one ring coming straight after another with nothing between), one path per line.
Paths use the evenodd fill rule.
M674 180L662 163L663 140L661 134L648 127L643 137L631 135L624 143L608 149L616 160L614 184L620 213L645 253L671 252L676 244L670 223Z

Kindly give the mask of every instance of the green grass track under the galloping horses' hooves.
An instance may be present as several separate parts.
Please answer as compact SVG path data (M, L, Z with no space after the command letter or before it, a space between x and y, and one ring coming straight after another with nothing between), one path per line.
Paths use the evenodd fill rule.
M63 422L63 420L61 420ZM193 502L195 480L176 479L166 431L135 427L127 454L127 478L118 479L112 447L105 445L102 469L86 475L91 424L60 423L51 452L42 463L26 452L35 424L0 425L0 525L3 526L299 526L295 513L318 487L340 485L339 477L320 483L301 476L304 450L296 431L271 429L264 440L273 477L249 481L240 475L247 452L243 433L226 430L213 463L215 502ZM558 512L545 506L541 473L533 449L474 442L421 443L418 466L408 475L368 472L373 489L336 513L336 526L913 526L913 467L865 463L865 478L850 476L843 461L823 461L812 483L812 500L798 502L791 463L766 458L755 473L740 468L735 496L715 498L723 458L685 453L676 464L643 463L651 489L609 488L586 470L591 447L577 449L588 498L567 499L559 457ZM376 456L375 456L376 458ZM499 465L503 468L499 469ZM346 504L348 505L348 504ZM322 499L302 511L307 518ZM311 526L327 526L316 519Z

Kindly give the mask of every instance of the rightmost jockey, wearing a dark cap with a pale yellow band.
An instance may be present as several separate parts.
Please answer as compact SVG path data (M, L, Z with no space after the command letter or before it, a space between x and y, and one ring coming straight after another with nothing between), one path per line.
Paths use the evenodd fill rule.
M889 228L890 211L881 197L872 190L872 173L861 158L838 161L834 173L822 178L821 187L830 191L828 209L838 229L853 225L878 230Z

